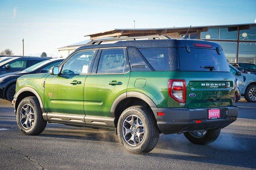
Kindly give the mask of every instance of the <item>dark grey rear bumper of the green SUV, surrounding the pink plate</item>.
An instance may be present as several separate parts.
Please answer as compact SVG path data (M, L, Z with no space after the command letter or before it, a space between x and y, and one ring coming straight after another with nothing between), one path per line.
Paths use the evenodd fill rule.
M151 107L156 117L159 130L164 134L183 133L206 129L221 129L234 122L238 115L238 108L220 107L221 119L208 119L208 109L160 108ZM164 112L158 116L157 112ZM196 123L196 120L202 123Z

